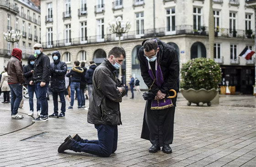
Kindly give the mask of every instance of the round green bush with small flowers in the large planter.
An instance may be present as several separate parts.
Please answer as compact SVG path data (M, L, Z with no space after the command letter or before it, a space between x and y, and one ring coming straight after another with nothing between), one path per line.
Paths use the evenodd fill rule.
M199 90L218 89L221 82L221 68L214 60L195 58L182 64L181 88Z

